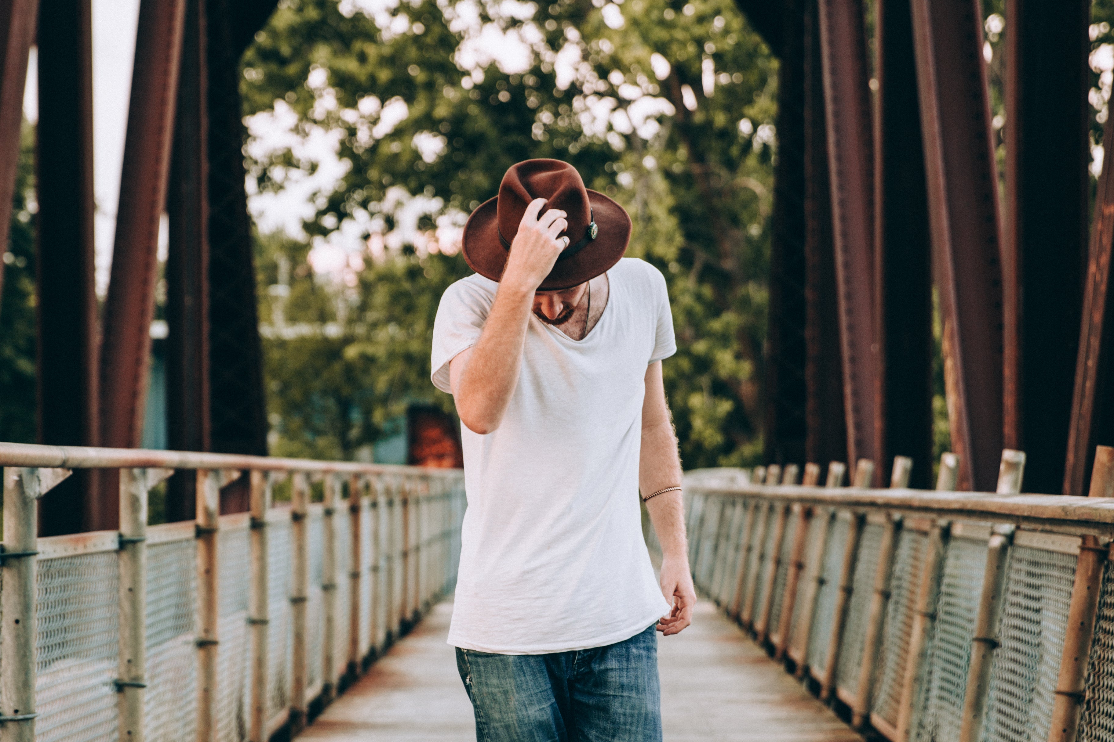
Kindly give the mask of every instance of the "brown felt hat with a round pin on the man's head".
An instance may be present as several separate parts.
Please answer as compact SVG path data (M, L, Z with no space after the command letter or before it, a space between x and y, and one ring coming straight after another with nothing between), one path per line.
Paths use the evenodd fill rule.
M547 209L568 217L568 247L538 286L555 291L579 286L604 273L623 257L631 240L631 216L603 194L584 187L580 174L560 160L526 160L512 165L499 184L499 195L479 205L465 225L463 253L469 267L499 280L507 266L510 244L526 207L547 199Z

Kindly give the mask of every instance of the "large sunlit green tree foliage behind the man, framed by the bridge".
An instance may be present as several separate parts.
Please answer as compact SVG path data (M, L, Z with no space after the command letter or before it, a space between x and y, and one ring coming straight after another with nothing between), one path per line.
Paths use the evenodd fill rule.
M261 291L289 291L285 335L265 327L276 453L351 455L409 402L452 408L429 383L468 274L451 235L507 167L554 157L668 279L686 465L758 457L776 62L729 0L284 0L242 87L257 224L287 233L258 253ZM274 206L292 194L304 212Z

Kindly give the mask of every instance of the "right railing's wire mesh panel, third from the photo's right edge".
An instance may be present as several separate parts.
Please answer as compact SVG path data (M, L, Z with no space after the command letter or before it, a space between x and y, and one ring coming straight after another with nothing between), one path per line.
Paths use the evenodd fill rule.
M918 701L918 742L955 742L967 692L971 639L978 614L986 542L952 538L944 557L944 574L936 605Z

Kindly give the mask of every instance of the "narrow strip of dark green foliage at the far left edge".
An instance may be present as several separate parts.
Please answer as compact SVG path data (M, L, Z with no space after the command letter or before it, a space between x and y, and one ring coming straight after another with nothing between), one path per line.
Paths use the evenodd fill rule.
M0 441L35 443L35 131L20 137L8 250L0 264Z

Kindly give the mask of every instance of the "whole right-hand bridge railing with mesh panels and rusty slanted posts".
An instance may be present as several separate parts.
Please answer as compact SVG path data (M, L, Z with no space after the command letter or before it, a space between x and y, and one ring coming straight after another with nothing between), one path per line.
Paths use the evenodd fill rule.
M1114 740L1114 449L1092 493L805 484L779 467L686 476L697 587L860 730L892 742ZM856 482L873 465L859 462ZM764 484L769 483L769 484ZM651 547L656 544L651 537Z

